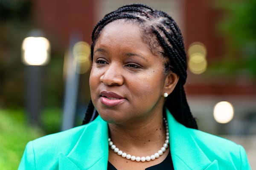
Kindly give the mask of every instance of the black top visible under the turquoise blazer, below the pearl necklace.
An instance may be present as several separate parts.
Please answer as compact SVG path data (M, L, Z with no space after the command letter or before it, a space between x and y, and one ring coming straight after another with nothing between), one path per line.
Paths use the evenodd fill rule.
M109 161L108 161L108 170L117 170ZM174 170L172 164L171 152L168 153L166 159L164 159L160 164L156 164L152 167L148 167L145 170Z

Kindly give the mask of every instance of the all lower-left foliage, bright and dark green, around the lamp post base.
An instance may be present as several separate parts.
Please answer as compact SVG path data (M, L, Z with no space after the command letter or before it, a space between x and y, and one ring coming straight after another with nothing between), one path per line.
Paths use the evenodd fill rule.
M41 127L35 127L29 125L22 109L0 109L0 169L16 170L27 142L60 131L60 108L47 108L40 118Z

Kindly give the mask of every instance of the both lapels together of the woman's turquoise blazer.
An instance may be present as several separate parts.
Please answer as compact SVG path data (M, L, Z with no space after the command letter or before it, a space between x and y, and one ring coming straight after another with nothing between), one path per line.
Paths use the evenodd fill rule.
M178 123L168 109L166 113L175 170L218 170L218 161L210 161L195 142L194 131ZM67 156L60 153L59 170L107 170L107 166L108 124L98 116L90 126L84 127Z

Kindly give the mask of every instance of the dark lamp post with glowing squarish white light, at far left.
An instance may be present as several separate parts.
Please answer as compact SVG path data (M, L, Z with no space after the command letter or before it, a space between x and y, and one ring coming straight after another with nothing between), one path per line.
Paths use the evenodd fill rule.
M50 43L41 31L32 31L30 35L22 43L22 62L26 65L26 109L29 122L39 125L43 66L49 62Z

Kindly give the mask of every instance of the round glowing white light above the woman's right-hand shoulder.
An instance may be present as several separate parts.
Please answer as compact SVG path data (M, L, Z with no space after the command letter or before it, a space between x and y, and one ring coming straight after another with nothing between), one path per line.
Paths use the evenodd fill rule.
M218 102L213 109L213 116L218 123L228 123L234 116L233 106L230 102Z

